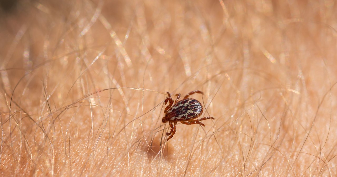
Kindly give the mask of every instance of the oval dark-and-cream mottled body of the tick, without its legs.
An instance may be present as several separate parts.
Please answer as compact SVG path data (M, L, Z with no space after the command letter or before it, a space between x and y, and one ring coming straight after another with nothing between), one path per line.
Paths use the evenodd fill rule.
M167 110L168 121L190 121L203 114L203 106L193 98L186 98L177 102Z

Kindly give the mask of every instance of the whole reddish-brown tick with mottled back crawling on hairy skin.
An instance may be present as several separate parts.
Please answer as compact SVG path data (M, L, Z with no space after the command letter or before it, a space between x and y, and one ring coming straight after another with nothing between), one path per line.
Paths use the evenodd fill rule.
M205 125L201 123L200 121L203 121L206 119L214 119L213 117L204 117L198 120L194 120L198 118L199 116L201 116L204 111L203 106L198 100L193 99L193 98L188 98L190 95L194 93L203 94L202 91L194 90L194 91L189 92L184 97L184 99L180 101L178 101L180 98L180 93L176 94L177 99L174 105L172 106L173 99L171 98L171 94L167 92L168 97L165 99L165 104L167 104L168 101L170 101L170 104L166 106L164 110L165 117L163 117L163 119L161 120L163 123L168 122L168 124L171 127L170 133L169 132L166 133L166 136L171 135L167 138L167 141L171 139L173 135L176 133L177 122L181 122L182 124L186 124L186 125L199 124L205 127Z

